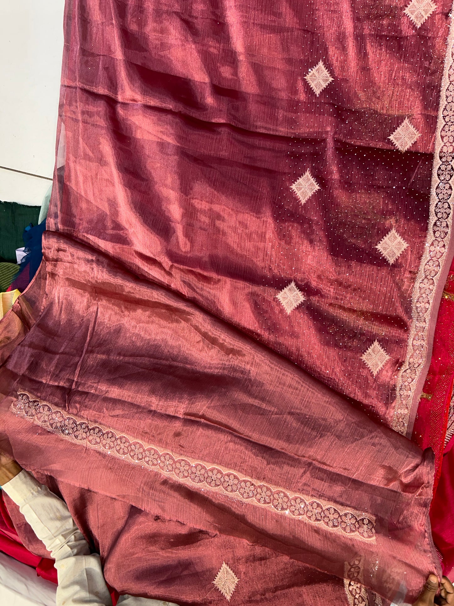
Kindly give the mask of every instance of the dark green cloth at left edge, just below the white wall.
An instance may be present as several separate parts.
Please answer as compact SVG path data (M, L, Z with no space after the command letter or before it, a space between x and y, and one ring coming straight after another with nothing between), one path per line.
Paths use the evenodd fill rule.
M38 225L39 206L0 202L0 260L16 263L16 248L24 246L22 233L28 224Z

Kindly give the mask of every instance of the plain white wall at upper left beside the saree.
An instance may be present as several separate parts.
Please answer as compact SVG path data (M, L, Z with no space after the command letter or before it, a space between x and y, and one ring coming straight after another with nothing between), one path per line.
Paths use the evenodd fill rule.
M52 178L64 0L0 0L0 200L40 205Z

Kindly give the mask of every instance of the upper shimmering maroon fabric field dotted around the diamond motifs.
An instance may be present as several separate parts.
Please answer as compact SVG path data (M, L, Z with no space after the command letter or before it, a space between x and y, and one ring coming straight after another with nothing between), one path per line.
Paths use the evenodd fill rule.
M437 5L420 38L404 6L69 0L48 229L392 425L451 8ZM304 76L321 60L334 81L316 96ZM406 115L421 136L403 154L389 136ZM321 191L301 205L290 187L309 169ZM410 245L390 265L376 246L392 228ZM292 281L306 301L287 315L276 295ZM372 379L361 356L377 338L390 360Z

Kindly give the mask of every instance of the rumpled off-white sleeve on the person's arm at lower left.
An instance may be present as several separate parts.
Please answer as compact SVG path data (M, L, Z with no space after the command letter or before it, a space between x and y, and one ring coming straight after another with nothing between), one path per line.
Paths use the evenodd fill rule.
M2 490L19 505L22 515L55 560L56 606L112 606L99 554L90 553L65 502L25 470L2 485ZM133 596L121 596L118 604L177 606L172 602Z

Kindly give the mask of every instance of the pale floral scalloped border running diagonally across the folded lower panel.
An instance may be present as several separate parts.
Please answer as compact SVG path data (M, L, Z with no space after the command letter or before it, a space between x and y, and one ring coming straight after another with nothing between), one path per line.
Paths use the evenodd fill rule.
M19 391L10 406L16 416L76 444L110 454L140 467L148 467L176 482L225 494L273 513L295 516L309 524L349 536L357 541L375 542L375 518L364 511L346 509L310 496L295 494L272 484L264 484L231 469L196 461L169 450L145 444L103 425L89 425L75 415L67 415L27 391Z

